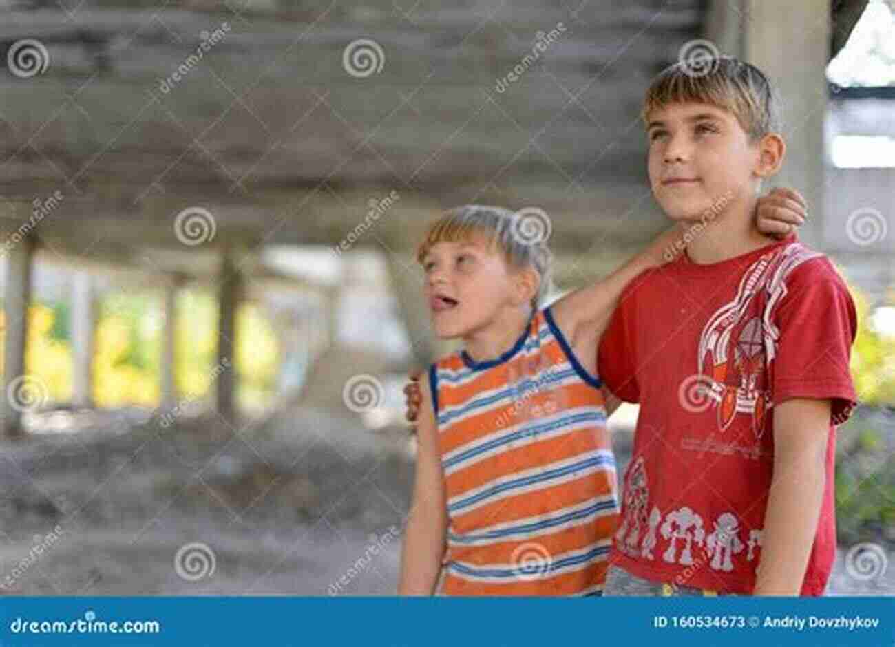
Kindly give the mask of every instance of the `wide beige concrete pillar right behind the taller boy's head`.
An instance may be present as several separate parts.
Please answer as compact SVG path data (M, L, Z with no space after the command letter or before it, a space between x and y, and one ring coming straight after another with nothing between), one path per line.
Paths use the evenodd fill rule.
M728 4L728 3L718 3ZM743 52L780 92L787 154L774 186L791 186L808 201L809 220L799 238L823 250L823 123L827 112L826 66L830 52L830 3L818 0L741 2ZM736 11L731 3L728 11Z

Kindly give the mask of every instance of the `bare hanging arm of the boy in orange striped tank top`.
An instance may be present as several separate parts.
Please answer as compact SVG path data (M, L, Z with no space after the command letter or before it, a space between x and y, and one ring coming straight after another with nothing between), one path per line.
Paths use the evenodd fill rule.
M431 595L434 592L447 535L447 501L438 445L438 424L431 403L427 373L422 373L419 385L421 402L416 421L416 474L413 502L401 551L398 595Z

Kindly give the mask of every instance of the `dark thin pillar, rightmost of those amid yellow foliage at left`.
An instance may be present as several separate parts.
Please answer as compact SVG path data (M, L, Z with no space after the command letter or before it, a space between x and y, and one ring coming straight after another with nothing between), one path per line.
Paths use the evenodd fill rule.
M234 250L226 248L221 259L217 285L217 413L227 421L236 420L236 308L243 293L243 279L236 267Z

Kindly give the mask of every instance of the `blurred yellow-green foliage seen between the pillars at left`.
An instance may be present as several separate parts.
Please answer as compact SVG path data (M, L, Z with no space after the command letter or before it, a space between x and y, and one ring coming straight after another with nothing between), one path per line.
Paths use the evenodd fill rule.
M99 406L160 404L160 360L165 329L157 292L109 294L98 302L94 330L93 398ZM217 363L217 300L192 290L178 293L175 388L179 397L201 397L213 387ZM50 400L72 395L72 341L67 302L29 308L26 367L46 385ZM265 404L276 387L277 336L260 309L243 303L236 313L235 358L240 404ZM3 345L0 344L0 361Z

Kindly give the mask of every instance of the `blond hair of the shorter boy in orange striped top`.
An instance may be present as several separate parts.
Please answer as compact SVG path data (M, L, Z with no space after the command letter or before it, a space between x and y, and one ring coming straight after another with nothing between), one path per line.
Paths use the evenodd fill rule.
M553 259L547 246L547 236L528 235L521 221L525 216L520 217L520 213L503 207L478 204L449 209L428 227L416 251L416 260L422 264L435 243L470 241L473 236L482 236L490 251L499 251L510 268L532 268L537 273L540 282L531 305L534 310L539 310L553 291ZM544 231L549 230L541 229L541 233Z

